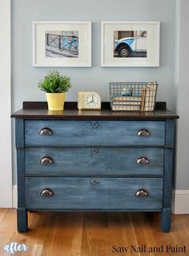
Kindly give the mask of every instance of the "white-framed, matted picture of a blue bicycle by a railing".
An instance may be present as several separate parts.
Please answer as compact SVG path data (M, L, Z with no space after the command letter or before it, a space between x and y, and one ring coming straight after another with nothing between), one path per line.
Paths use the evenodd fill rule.
M33 22L34 67L90 67L91 22Z

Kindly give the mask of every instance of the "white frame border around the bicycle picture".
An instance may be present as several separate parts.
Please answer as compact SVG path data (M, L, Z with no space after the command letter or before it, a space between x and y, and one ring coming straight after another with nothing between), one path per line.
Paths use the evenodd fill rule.
M33 66L34 67L91 67L91 22L87 21L34 21L32 26L33 29ZM57 24L57 25L63 25L63 24L75 24L75 25L81 25L81 24L86 24L87 30L88 30L88 35L87 35L87 60L86 63L66 63L66 58L56 58L59 60L59 63L37 63L36 60L36 52L37 52L37 47L36 47L36 36L35 36L35 31L36 31L36 26L40 24ZM53 59L53 58L52 58ZM79 60L81 58L77 58Z

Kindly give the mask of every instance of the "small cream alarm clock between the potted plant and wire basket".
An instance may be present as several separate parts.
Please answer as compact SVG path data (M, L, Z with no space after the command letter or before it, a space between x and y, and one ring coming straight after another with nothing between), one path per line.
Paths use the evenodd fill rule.
M78 92L78 109L101 109L99 93Z

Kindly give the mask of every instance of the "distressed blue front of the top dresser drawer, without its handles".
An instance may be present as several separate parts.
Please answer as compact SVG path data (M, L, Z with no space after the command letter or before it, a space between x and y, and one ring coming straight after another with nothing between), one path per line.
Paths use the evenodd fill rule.
M35 121L25 122L26 146L91 146L91 145L156 145L165 143L165 122L162 121ZM50 128L52 135L40 135ZM150 136L137 136L141 129Z

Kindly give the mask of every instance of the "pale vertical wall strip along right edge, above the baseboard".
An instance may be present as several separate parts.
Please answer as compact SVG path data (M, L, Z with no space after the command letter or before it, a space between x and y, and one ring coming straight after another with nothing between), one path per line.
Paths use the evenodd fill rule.
M189 1L177 0L177 58L175 98L179 114L177 126L176 182L175 188L189 190ZM189 205L189 204L187 204Z

